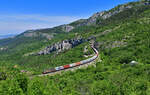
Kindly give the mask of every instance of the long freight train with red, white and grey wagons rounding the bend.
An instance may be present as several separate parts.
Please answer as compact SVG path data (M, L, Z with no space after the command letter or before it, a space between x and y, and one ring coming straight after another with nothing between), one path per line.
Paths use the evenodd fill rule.
M55 67L55 68L52 68L52 69L49 69L49 70L46 70L46 71L42 72L42 74L53 73L53 72L57 72L57 71L61 71L61 70L65 70L65 69L69 69L69 68L73 68L73 67L77 67L77 66L80 66L80 65L84 65L84 64L87 64L87 63L90 63L90 62L94 61L98 57L98 51L93 46L91 46L91 48L95 52L95 55L93 57L91 57L89 59L86 59L86 60L82 60L80 62L76 62L76 63L64 65L64 66Z

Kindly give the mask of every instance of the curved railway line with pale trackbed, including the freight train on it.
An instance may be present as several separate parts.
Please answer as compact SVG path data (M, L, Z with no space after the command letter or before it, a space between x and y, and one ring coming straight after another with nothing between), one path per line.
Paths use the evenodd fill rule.
M95 53L95 55L93 57L88 58L86 60L82 60L80 62L76 62L76 63L64 65L64 66L51 68L49 70L45 70L44 72L42 72L41 75L38 75L38 76L55 75L55 74L61 73L61 71L74 70L74 69L78 69L80 67L88 66L89 64L92 64L92 62L94 62L98 58L99 52L94 48L93 45L91 46L91 48L93 49L93 51Z

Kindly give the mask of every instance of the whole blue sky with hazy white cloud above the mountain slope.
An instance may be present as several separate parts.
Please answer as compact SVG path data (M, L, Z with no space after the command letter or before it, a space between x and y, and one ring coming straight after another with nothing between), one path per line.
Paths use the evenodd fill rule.
M130 1L135 0L0 0L0 35L68 24Z

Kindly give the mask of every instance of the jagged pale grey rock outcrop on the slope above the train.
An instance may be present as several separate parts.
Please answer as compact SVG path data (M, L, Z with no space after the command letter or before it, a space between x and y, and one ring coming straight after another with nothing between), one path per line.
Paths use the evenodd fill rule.
M39 51L38 53L36 53L35 55L46 55L46 54L50 54L54 51L56 51L57 53L62 52L64 50L68 50L70 48L73 48L83 42L85 42L86 40L84 40L83 38L75 38L75 39L71 39L71 40L64 40L62 42L57 42L53 45L47 46L45 49Z

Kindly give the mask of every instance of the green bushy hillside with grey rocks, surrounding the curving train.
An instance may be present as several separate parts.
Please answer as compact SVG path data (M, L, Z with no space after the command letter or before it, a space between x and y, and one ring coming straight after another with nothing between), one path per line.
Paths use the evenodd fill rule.
M38 77L99 50L95 66ZM149 95L150 5L118 5L88 19L0 40L0 95ZM23 72L21 72L23 71Z

